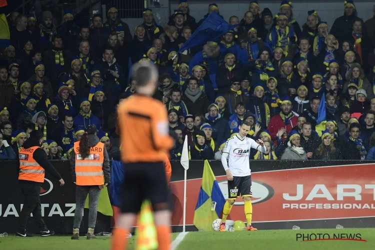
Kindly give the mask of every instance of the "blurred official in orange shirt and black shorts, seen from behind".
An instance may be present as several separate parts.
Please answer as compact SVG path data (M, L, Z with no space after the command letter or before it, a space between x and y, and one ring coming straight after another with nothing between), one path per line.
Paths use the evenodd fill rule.
M144 199L153 208L158 249L170 247L169 190L165 177L164 156L173 146L168 133L165 106L151 96L158 74L148 61L133 66L136 93L122 100L117 108L117 122L124 162L121 214L112 232L111 249L125 249L130 227L135 224Z

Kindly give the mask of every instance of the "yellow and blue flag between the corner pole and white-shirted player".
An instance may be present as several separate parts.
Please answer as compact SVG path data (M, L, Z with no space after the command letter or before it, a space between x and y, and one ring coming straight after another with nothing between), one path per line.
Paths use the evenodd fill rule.
M214 211L211 211L211 203L216 201ZM225 198L222 195L215 175L207 160L204 160L202 184L196 202L193 224L196 228L212 229L212 221L217 219L224 207Z

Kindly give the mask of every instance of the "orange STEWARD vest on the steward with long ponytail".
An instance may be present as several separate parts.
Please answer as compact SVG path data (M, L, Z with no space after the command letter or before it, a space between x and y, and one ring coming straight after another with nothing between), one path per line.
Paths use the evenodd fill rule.
M104 143L98 142L90 147L90 154L82 159L79 153L79 141L76 141L74 142L74 152L75 184L81 186L104 184Z

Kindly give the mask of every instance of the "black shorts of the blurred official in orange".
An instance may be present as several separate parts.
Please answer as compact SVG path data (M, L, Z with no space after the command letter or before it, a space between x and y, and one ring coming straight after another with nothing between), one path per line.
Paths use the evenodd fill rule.
M144 199L154 211L170 209L163 162L124 163L121 212L137 213Z

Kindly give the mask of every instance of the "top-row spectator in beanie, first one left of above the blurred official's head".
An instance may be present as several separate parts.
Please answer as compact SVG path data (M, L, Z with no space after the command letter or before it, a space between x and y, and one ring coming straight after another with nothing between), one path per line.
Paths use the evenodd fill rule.
M104 23L104 26L109 29L109 33L115 32L118 35L124 37L124 41L127 43L131 40L131 33L129 25L121 21L118 17L118 10L115 7L110 7L107 11L107 21Z

